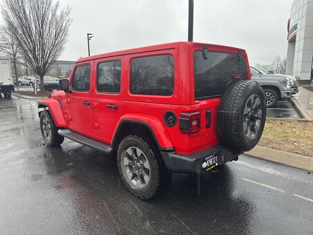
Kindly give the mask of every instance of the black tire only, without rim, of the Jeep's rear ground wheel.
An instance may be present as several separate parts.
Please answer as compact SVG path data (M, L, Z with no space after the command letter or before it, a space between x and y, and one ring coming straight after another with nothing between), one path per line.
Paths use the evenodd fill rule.
M150 164L150 181L144 188L137 188L133 185L125 172L123 158L126 150L133 146L144 153ZM142 200L150 200L156 197L172 180L172 172L164 165L159 149L150 138L141 138L136 135L126 136L117 149L117 166L126 188Z

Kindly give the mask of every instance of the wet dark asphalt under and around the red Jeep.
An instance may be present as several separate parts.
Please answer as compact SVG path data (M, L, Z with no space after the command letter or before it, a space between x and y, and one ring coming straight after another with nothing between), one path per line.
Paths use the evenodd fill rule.
M73 141L49 148L37 101L0 99L0 234L313 234L313 173L241 155L218 173L174 174L144 202L116 160ZM199 193L200 192L200 193Z

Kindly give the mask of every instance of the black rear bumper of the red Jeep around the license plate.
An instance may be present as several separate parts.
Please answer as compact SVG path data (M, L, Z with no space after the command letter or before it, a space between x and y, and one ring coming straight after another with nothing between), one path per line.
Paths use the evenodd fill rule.
M202 173L202 159L214 153L217 153L218 164L221 165L237 160L238 156L243 152L233 154L229 148L221 144L214 145L192 154L178 154L176 152L161 151L163 162L168 170L173 172L195 174ZM227 156L227 153L229 157Z

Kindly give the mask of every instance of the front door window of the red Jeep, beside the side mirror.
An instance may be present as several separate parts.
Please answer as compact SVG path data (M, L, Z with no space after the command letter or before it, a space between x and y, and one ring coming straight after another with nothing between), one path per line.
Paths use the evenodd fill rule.
M71 87L74 91L88 92L90 86L90 65L78 66L75 69Z

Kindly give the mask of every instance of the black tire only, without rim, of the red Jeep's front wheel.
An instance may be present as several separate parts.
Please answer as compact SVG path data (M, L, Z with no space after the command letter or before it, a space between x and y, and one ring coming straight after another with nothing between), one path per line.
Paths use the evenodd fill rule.
M49 121L49 124L51 126L51 138L50 138L50 140L48 140L44 135L44 131L43 131L43 119L44 118L46 118ZM45 144L47 146L55 147L55 146L59 146L60 144L63 143L64 137L60 136L58 134L59 129L55 126L53 119L51 118L50 114L46 111L43 111L40 115L40 130L41 130L41 134L43 136L43 139L45 141Z

